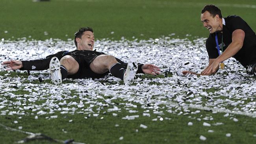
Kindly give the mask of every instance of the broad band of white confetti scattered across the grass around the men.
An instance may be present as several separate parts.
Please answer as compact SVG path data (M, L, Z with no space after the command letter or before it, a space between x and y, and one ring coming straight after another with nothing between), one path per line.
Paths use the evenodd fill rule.
M38 81L39 77L50 79L48 70L41 71L40 76L33 75L33 71L31 71L29 78L7 78L8 83L1 81L2 91L5 92L3 96L14 99L14 102L0 101L0 109L17 106L19 108L17 108L17 111L1 111L0 114L42 115L58 112L61 114L84 113L86 116L88 114L89 117L94 113L117 113L121 110L134 112L133 108L138 107L135 103L138 103L143 105L143 109L145 109L143 113L149 113L148 109L150 109L152 113L158 115L165 113L178 115L198 114L200 111L206 110L213 113L224 113L228 116L230 114L232 116L233 114L242 114L256 117L256 103L254 102L256 81L254 81L253 76L246 74L245 68L237 64L236 60L230 58L225 61L228 67L224 70L219 70L214 76L184 77L181 74L182 70L189 69L200 72L204 68L202 63L205 63L205 60L208 59L205 48L206 39L200 38L189 41L189 39L172 39L172 35L174 34L168 35L169 37L140 41L137 41L135 37L133 38L134 41L129 41L124 37L120 41L101 39L95 41L95 49L99 52L114 55L123 61L128 61L128 57L137 57L139 63L157 65L163 72L165 70L170 71L173 77L136 78L135 85L127 87L119 83L120 79L106 76L100 80L75 79L72 80L72 83L63 83L61 87L57 87L50 83L40 83L40 85L23 83L23 81L27 80L31 82ZM5 55L1 61L9 59L39 59L61 50L75 50L73 39L68 41L60 39L36 41L18 38L15 41L6 39L1 39L0 41L1 54ZM189 62L189 64L184 65L182 61ZM4 67L1 66L0 70L4 71ZM10 74L7 73L5 76L8 77ZM106 82L102 84L102 80ZM109 85L109 83L116 84ZM152 85L152 83L159 83L160 85ZM187 87L184 87L184 85L187 85ZM13 94L12 91L15 90L13 86L24 89L29 94L26 97ZM90 87L94 89L92 90ZM206 92L207 89L216 89L216 91L208 93ZM75 96L71 94L71 90L77 92ZM157 99L153 98L156 95ZM204 100L204 97L207 97L207 100ZM79 98L80 102L72 102L75 98ZM118 104L113 102L117 98L122 102ZM23 100L26 100L26 103L22 103ZM35 103L40 104L35 105ZM163 106L159 107L159 105ZM232 107L229 107L230 105ZM50 107L51 109L48 111L45 110L45 107ZM102 110L101 107L107 107L107 110ZM163 111L164 108L162 107L167 108L167 111ZM195 110L188 112L189 108ZM129 120L135 118L137 117L124 117L124 119ZM232 119L236 121L236 118ZM210 116L197 117L195 120L213 120L213 118ZM211 125L221 124L223 123Z

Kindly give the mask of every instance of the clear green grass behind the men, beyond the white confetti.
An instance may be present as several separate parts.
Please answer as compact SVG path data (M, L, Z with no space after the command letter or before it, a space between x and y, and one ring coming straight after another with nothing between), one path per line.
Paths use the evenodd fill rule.
M191 38L207 37L200 22L205 0L1 0L0 38L73 39L82 26L91 26L96 39L149 39L161 35ZM256 5L254 0L215 0L223 16L239 15L256 31L255 9L232 4ZM229 4L229 5L225 5ZM15 9L14 9L15 7ZM4 33L8 31L8 33ZM44 31L48 35L44 35ZM114 31L114 34L111 34ZM143 36L141 36L143 34ZM189 34L191 36L186 36ZM67 35L67 37L65 36ZM29 38L28 38L29 39Z

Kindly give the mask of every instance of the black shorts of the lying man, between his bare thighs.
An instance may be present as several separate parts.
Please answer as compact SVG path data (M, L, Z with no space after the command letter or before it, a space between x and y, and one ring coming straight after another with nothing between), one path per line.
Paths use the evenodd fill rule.
M99 56L103 55L103 52L96 52L91 50L74 50L72 52L68 52L66 55L72 56L79 65L78 72L76 74L67 76L67 78L72 79L83 79L83 78L102 78L108 75L109 72L104 74L96 74L90 68L91 62Z

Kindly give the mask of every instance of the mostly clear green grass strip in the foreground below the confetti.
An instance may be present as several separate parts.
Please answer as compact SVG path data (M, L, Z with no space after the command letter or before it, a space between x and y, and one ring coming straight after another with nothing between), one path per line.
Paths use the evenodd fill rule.
M112 113L100 114L98 117L88 117L85 114L46 114L39 116L38 120L34 119L34 116L22 116L21 119L18 116L2 116L1 122L7 126L18 128L23 126L24 131L30 131L33 133L44 133L52 138L65 140L68 138L74 138L77 142L85 143L126 143L126 144L147 144L147 143L211 143L211 144L227 144L227 143L254 143L256 138L255 134L256 121L254 118L245 116L236 116L239 119L238 122L234 122L229 118L223 117L222 113L211 114L208 111L202 111L200 114L188 114L186 116L177 114L170 114L165 112L163 121L159 118L157 121L152 121L153 118L157 118L157 114L151 116L142 116L143 110L141 108L136 109L139 112L134 115L139 115L139 118L135 120L122 120L122 117L131 115L127 111L121 111L117 113L117 116L112 116ZM165 111L165 109L162 109ZM191 109L195 111L194 109ZM116 113L116 112L115 112ZM212 121L198 121L197 118L204 118L206 116L213 116ZM57 119L46 119L45 117L51 115L58 115ZM84 118L87 116L87 119ZM189 118L191 116L191 118ZM103 117L103 119L101 119ZM171 118L166 120L165 117ZM195 119L194 119L195 118ZM14 124L13 121L18 120L18 124ZM73 120L69 122L69 120ZM188 122L193 122L193 126L187 126ZM208 122L211 125L217 122L222 122L221 126L202 126L203 122ZM115 125L118 124L118 127ZM140 124L148 126L147 129L139 127ZM62 129L67 131L63 133ZM136 132L138 129L138 132ZM214 133L208 133L208 130L214 130ZM226 133L231 133L231 137L226 137ZM19 132L7 131L2 128L0 134L4 137L5 143L13 143L15 140L20 140L26 137L25 134ZM207 141L200 141L200 135L207 137ZM119 140L119 137L124 137L123 140ZM41 142L29 142L28 144L39 143L46 144L47 141Z

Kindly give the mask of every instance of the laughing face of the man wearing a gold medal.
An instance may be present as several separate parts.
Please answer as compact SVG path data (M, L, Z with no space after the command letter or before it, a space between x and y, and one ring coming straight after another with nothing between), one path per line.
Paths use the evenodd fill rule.
M219 15L212 17L208 11L201 14L201 22L204 27L207 28L210 33L215 33L216 31L222 31L222 19Z

